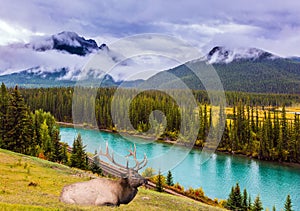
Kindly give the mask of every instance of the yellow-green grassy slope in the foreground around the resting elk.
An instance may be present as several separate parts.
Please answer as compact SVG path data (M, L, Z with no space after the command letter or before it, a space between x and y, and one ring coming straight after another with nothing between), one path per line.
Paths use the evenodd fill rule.
M130 204L120 207L59 202L64 185L89 179L84 171L0 149L0 210L222 210L143 187Z

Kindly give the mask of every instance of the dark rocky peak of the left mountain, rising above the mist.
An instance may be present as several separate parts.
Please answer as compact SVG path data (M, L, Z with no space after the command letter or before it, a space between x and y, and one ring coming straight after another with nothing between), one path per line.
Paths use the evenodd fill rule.
M86 40L75 32L67 31L52 35L51 37L33 40L25 46L36 51L59 50L79 56L85 56L99 50L95 40Z

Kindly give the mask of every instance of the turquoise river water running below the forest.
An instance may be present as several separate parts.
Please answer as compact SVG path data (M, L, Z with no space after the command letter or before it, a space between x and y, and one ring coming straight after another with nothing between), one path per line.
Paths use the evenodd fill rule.
M231 187L239 182L241 189L246 188L251 194L252 201L260 195L264 208L272 210L275 205L276 210L283 209L286 196L290 194L293 209L300 211L300 168L221 153L212 154L209 160L202 163L203 153L200 150L190 151L183 147L136 137L124 138L97 130L61 127L61 141L72 146L78 133L88 152L94 153L100 145L105 149L105 143L108 142L116 160L124 163L122 156L127 155L128 149L135 143L139 159L146 153L149 160L147 167L161 169L165 174L168 166L172 166L170 170L174 182L179 182L185 188L202 187L212 199L227 199ZM164 154L168 154L168 157L162 156Z

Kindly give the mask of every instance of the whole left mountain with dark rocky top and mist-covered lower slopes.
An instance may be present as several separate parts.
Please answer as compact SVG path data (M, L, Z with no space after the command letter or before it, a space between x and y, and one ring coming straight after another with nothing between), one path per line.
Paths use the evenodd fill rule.
M94 56L98 62L90 63ZM112 76L122 81L126 74L132 74L122 68L135 65L130 59L124 60L104 43L98 46L95 40L75 32L61 32L34 38L27 44L0 46L0 79L13 86L70 85L78 80L99 79L105 67L117 66L118 72Z

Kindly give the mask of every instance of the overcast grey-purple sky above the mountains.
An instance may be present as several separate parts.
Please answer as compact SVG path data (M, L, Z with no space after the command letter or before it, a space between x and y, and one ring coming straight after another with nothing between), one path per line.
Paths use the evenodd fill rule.
M0 45L61 31L108 44L124 36L162 33L203 52L225 45L300 56L299 20L296 0L1 0Z

